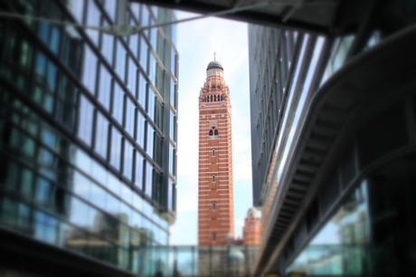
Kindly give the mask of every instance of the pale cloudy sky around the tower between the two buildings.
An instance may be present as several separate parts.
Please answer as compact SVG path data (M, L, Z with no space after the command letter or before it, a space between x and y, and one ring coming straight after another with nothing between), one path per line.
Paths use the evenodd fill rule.
M194 16L183 12L178 18ZM206 18L177 26L179 52L177 213L170 244L197 244L198 202L198 96L205 70L213 61L224 68L232 100L232 161L234 233L241 236L252 205L250 87L247 24Z

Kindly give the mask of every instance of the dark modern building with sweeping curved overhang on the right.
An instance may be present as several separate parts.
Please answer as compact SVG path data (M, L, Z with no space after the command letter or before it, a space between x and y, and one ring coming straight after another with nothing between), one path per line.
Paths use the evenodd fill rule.
M249 27L256 276L416 274L416 13L358 6L327 33Z

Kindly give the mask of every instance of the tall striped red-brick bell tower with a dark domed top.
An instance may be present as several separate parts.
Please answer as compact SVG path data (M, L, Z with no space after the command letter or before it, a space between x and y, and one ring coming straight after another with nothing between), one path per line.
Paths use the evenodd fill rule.
M199 245L223 245L233 238L232 197L232 106L214 56L199 96Z

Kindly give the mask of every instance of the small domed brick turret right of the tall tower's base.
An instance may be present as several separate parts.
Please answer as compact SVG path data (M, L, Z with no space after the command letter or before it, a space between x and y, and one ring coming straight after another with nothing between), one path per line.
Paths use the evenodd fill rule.
M245 245L259 245L261 234L260 212L255 208L250 208L244 220L242 228L242 241Z

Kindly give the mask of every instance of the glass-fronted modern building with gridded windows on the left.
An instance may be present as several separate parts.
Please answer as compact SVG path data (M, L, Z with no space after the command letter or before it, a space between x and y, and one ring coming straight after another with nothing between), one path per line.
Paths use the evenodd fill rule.
M116 36L171 11L121 1L3 1L1 272L154 275L175 220L175 26ZM126 3L126 2L125 2ZM120 12L126 22L120 22ZM34 17L33 17L34 16Z

